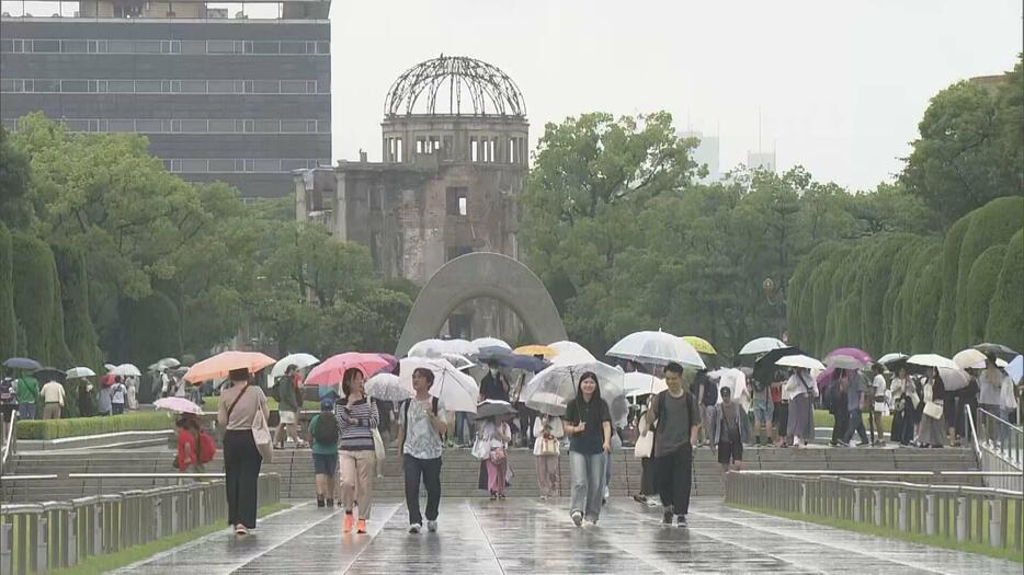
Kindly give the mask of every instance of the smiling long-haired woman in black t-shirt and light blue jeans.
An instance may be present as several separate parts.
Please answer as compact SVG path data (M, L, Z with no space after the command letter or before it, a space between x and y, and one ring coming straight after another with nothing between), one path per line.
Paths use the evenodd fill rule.
M569 517L580 527L585 518L598 525L607 456L612 451L612 414L601 398L598 376L591 371L580 377L576 398L566 407L562 428L569 435L569 471L572 487Z

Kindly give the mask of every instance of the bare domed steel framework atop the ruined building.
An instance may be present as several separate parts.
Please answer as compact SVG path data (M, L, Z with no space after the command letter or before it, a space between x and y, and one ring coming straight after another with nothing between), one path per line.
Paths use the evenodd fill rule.
M526 106L519 87L497 67L442 54L395 80L384 101L384 114L522 117Z

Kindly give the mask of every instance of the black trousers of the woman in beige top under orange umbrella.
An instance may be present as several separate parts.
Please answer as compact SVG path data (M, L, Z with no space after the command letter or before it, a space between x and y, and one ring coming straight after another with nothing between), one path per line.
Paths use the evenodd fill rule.
M263 456L249 429L224 434L224 486L228 496L228 525L252 529L257 516L257 485Z

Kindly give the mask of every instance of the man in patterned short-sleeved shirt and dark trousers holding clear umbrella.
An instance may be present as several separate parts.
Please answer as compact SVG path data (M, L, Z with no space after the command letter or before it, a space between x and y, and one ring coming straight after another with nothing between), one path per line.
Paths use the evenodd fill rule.
M406 474L406 507L409 508L409 532L423 528L420 515L420 479L426 486L426 530L437 530L437 507L441 506L442 437L447 432L447 415L437 407L437 398L430 396L434 372L417 368L412 372L416 396L402 402L398 410L398 452Z

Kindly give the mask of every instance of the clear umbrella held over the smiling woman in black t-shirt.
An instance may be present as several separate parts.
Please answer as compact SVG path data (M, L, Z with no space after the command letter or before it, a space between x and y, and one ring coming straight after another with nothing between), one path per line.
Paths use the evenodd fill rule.
M580 377L592 371L598 376L598 387L601 399L608 404L612 422L622 426L626 422L628 405L625 398L625 373L617 367L601 361L588 361L570 366L553 365L533 377L520 393L520 401L524 403L538 403L538 398L548 398L548 393L557 395L566 404L576 398L576 388ZM538 410L543 411L543 410Z

